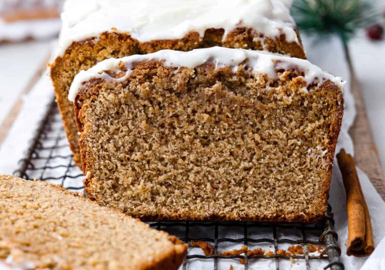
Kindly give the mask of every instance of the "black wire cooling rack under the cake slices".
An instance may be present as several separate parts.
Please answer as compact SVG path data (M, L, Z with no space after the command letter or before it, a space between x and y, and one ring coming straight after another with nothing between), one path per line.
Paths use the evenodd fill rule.
M19 161L15 176L41 179L61 184L71 191L83 191L83 174L72 161L62 121L52 100L33 137L25 158ZM212 255L204 255L197 247L189 246L181 269L332 269L341 270L340 248L333 230L334 220L328 207L321 222L316 224L260 223L260 222L150 222L150 226L176 235L184 242L205 241L212 245ZM224 256L221 251L241 246L249 250L262 248L264 254L247 253ZM300 245L303 252L281 252L290 245ZM321 251L311 252L314 246ZM310 250L309 250L309 247ZM267 253L267 251L269 251ZM264 263L264 264L261 264ZM267 263L267 264L266 264ZM314 266L316 264L316 266ZM212 267L211 267L212 266ZM267 266L266 266L267 267Z

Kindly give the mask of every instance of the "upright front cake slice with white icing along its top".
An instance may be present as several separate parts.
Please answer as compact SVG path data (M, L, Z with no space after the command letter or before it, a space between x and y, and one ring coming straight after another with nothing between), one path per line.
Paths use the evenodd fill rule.
M144 220L317 220L342 85L307 60L243 49L102 61L69 95L87 196Z

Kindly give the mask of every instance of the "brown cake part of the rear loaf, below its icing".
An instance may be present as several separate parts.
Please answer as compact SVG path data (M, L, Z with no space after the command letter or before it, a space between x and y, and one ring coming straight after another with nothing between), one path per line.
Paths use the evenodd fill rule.
M238 28L230 32L224 40L222 40L223 33L223 29L207 29L203 37L200 37L197 32L193 31L181 39L140 43L138 40L131 38L128 33L104 32L100 34L100 38L93 37L73 42L65 50L63 57L56 57L51 64L51 79L69 146L74 154L76 164L81 167L73 106L67 96L72 79L78 71L88 69L103 59L118 58L131 54L145 54L160 49L186 51L210 46L263 49L259 40L252 41L254 37L263 37L263 34L256 33L250 28ZM300 40L298 32L297 36ZM264 47L265 50L271 52L306 58L302 46L295 42L287 42L284 34L276 39L266 37Z

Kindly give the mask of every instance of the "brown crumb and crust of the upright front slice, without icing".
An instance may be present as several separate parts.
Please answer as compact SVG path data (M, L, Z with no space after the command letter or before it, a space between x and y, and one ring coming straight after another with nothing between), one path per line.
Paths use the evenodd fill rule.
M212 64L205 64L194 69L182 67L176 71L176 68L164 67L161 61L152 60L134 63L132 73L124 82L91 79L80 88L74 102L75 117L80 132L81 162L84 174L88 173L84 183L87 196L102 205L119 208L142 220L252 220L306 223L319 220L327 207L332 160L343 114L342 93L339 87L330 81L324 82L319 87L313 85L311 91L304 93L300 90L303 86L303 80L299 77L301 73L295 70L284 72L284 79L281 81L268 82L269 79L266 76L263 75L254 79L249 72L242 68L238 69L237 78L234 78L229 67L215 69ZM119 74L110 75L120 76ZM274 88L275 86L266 90L266 83L270 83L270 87L274 84L275 86L279 84L283 86L281 85L281 90ZM188 99L189 94L193 98ZM279 96L285 98L282 99ZM196 99L194 99L195 97ZM140 122L139 119L141 118L135 118L136 120L131 123L133 126L126 128L128 126L127 118L132 116L127 116L130 113L129 106L138 100L156 113L162 113L156 98L162 100L159 101L160 103L164 103L161 106L163 110L180 109L177 113L182 116L179 115L178 117L186 119L185 121L200 119L204 124L205 120L201 120L202 115L203 118L216 120L215 128L219 130L223 127L223 122L228 120L223 118L220 113L225 114L228 112L226 109L235 106L239 110L229 110L232 117L242 119L241 115L251 113L250 118L247 119L255 120L252 124L250 123L250 126L254 128L251 131L257 134L253 133L250 137L243 134L246 136L245 141L247 139L250 141L241 144L242 151L234 148L234 153L232 153L235 162L234 168L218 174L218 178L215 176L212 176L210 180L208 178L203 179L203 176L199 178L199 175L203 175L199 174L199 170L191 173L186 172L180 169L184 165L183 161L174 162L170 159L169 162L172 166L179 169L178 173L164 182L159 181L156 172L154 172L155 169L151 172L155 176L149 176L148 171L151 171L151 167L141 166L137 163L137 156L132 159L124 152L138 153L142 156L144 164L145 160L151 160L147 162L158 162L160 166L164 165L163 157L168 162L167 156L175 154L175 152L166 153L159 158L156 151L159 152L160 150L147 151L140 148L147 143L141 140L144 140L146 136L146 132L143 130L158 130L151 131L155 137L161 132L161 129L156 129L158 123L154 123L155 120L151 117L146 117L144 112L137 112L142 119L145 119L144 122ZM179 103L172 106L171 103L166 102L167 100ZM197 104L196 106L193 105L194 102ZM187 112L184 115L184 111L188 110L187 107L183 107L186 104L197 112L195 111L192 116L188 115ZM206 104L215 109L220 108L222 112L210 114L204 110ZM200 108L202 110L199 110ZM94 111L97 113L93 113ZM255 115L252 112L255 112ZM269 115L275 115L274 113L276 113L275 118L271 118L273 116L269 118ZM290 117L296 117L296 113L298 117L294 121ZM285 114L290 116L286 117ZM168 124L172 122L174 126L184 123L183 120L177 122L172 118L167 118L167 116L164 117ZM263 121L264 117L266 121ZM104 122L104 119L108 120ZM282 124L278 128L281 120ZM260 126L258 126L258 121L260 121ZM241 128L234 122L235 120L233 122L229 120L228 125L232 124L234 130ZM300 129L302 122L307 124L307 131ZM263 130L263 126L268 127L269 124L272 126L269 127L271 130L267 130L267 128ZM296 126L296 129L291 130L290 124ZM167 125L165 127L168 128ZM215 139L210 137L215 129L212 128L214 127L209 126L206 129L196 127L196 130L201 132L195 138L195 142L200 143L198 149L200 152L196 152L195 156L198 159L205 160L206 156L212 157L211 151L215 152L218 149L209 148L211 147L210 143L216 143ZM232 132L230 129L228 132ZM283 133L279 133L280 131L276 129L281 129ZM137 137L130 130L137 133ZM173 138L172 130L172 128L167 129L168 133L164 136ZM115 133L113 134L113 132ZM203 133L206 135L202 136ZM188 132L186 134L191 135ZM103 137L103 135L105 136ZM123 140L123 137L125 139L126 136L135 137L136 142L131 143L130 138L127 141ZM236 138L237 136L241 135L234 133L233 137ZM281 139L279 136L284 138ZM176 138L181 141L181 137L176 136ZM255 142L258 139L260 141ZM307 157L305 152L314 146L311 144L312 139L320 140L317 143L320 143L327 150L323 158L311 155ZM220 141L221 139L218 138L217 140ZM233 147L235 141L236 139L232 141L232 144L227 145L228 149ZM160 144L157 149L161 149L161 146L167 145L167 140L162 141L160 139L156 143ZM156 143L153 143L152 146ZM204 148L204 143L206 146L208 145L208 148ZM105 147L100 144L104 144ZM285 148L286 144L288 144L288 148ZM108 149L107 145L112 150ZM260 147L261 150L258 148L259 150L253 152L252 149L248 149L248 145ZM188 152L185 161L188 166L188 158L194 157L189 154L190 152L195 154L194 149L180 147L180 149ZM269 155L270 152L272 155L267 158L267 161L265 160L266 163L260 165L265 162L263 155ZM287 158L280 152L286 154ZM252 176L247 176L247 173L244 173L237 165L246 162L247 160L242 160L242 158L249 158L252 154L257 156L252 165L257 168L258 172L255 174L254 170ZM176 155L178 155L177 152ZM225 154L218 151L217 155ZM294 157L290 159L290 155L294 155ZM147 156L149 159L146 159ZM178 156L175 158L177 159ZM229 158L232 157L229 156ZM278 160L280 161L278 162ZM193 162L199 163L199 160L194 159ZM209 163L210 160L204 162ZM290 162L293 164L290 165ZM199 163L200 166L205 164ZM285 171L282 168L274 173L274 169L279 168L281 164L284 164L289 170ZM226 169L226 166L219 165L215 171L219 171L220 168ZM102 171L103 169L107 172ZM109 175L108 171L112 175ZM164 171L164 174L169 171ZM243 176L238 177L234 171ZM280 175L280 171L283 174ZM116 174L113 174L115 172ZM270 176L266 178L265 174L273 175L270 181L268 179ZM226 178L227 176L228 178ZM193 180L189 181L189 177L192 177ZM144 182L140 187L142 189L138 188L137 181L139 179ZM182 184L179 185L178 181L181 181ZM218 181L222 185L217 184ZM234 182L232 183L232 181ZM207 187L208 191L204 191L207 182L213 187ZM302 188L302 185L306 185L307 189ZM124 189L126 187L128 191ZM252 190L253 188L259 189L255 191ZM277 193L274 195L275 188L279 188L279 190L276 190ZM180 190L183 190L183 195L178 194L181 192ZM300 192L304 192L303 197L302 194L298 194ZM286 201L285 198L287 198ZM168 199L170 202L163 203L163 199ZM290 203L293 204L290 205Z

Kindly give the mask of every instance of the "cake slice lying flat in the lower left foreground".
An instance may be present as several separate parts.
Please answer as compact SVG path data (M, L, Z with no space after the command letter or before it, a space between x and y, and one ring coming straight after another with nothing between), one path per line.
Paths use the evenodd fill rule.
M177 269L186 245L59 186L0 175L0 266Z

